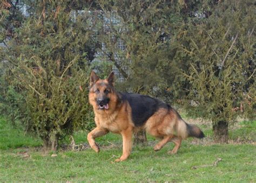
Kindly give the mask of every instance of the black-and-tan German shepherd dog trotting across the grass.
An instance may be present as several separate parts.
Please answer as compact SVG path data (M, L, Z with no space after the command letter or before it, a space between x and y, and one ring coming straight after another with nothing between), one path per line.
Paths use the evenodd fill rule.
M120 133L123 138L123 154L116 162L129 157L132 134L142 129L161 139L154 151L159 151L167 142L173 142L175 146L170 154L177 153L181 140L204 137L197 126L187 124L169 104L146 95L120 93L114 89L113 83L113 72L104 80L99 79L95 72L91 73L89 102L97 127L88 134L87 140L96 152L99 152L99 146L95 138L110 131Z

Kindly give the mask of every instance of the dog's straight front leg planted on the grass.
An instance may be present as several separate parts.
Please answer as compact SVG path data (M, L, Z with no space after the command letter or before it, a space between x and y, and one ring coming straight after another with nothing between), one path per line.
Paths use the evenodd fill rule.
M132 150L132 129L127 128L126 130L121 131L121 135L123 137L123 154L119 159L116 159L116 162L126 160L131 153Z

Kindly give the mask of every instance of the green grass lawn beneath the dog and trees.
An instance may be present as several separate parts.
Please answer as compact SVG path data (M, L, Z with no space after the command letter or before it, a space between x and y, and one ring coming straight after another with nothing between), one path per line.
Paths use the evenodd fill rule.
M231 138L253 142L256 121L242 122L233 129ZM171 181L171 182L255 182L256 146L250 144L206 143L212 134L201 125L206 140L184 140L176 155L168 155L173 144L154 152L157 141L149 137L149 146L134 146L130 158L112 163L122 154L121 137L109 134L97 139L103 146L97 154L90 148L84 151L59 151L57 156L41 152L41 140L12 129L0 119L0 182L6 181ZM244 130L242 130L244 129ZM247 135L246 135L246 134ZM86 143L86 133L74 135L75 142ZM200 143L201 142L201 143ZM254 141L255 142L255 141ZM221 160L217 161L218 158ZM214 166L214 162L217 166Z

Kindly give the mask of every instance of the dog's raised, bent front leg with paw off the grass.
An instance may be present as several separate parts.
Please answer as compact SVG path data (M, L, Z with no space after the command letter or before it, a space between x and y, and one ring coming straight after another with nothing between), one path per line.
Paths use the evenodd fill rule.
M90 144L90 146L92 147L93 150L95 150L96 152L99 152L99 146L95 143L95 138L100 137L100 136L104 136L108 132L109 131L107 131L105 129L102 129L100 127L96 127L90 133L88 133L87 140L88 140L88 142L89 142L89 144Z

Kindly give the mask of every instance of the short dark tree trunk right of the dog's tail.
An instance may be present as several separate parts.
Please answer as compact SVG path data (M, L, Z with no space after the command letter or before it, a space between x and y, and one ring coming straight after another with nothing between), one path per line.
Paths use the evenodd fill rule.
M216 142L227 143L228 123L226 121L219 121L213 124L213 134Z

